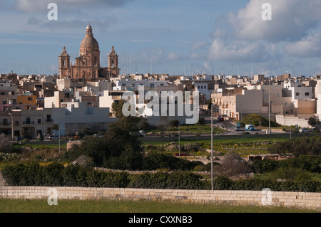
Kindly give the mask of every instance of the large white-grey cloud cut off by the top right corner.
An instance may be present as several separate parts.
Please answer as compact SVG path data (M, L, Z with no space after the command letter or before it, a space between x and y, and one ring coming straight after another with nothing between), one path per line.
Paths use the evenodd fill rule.
M235 35L247 40L297 41L321 19L319 0L270 0L272 20L262 19L265 0L251 0L238 14L229 14Z

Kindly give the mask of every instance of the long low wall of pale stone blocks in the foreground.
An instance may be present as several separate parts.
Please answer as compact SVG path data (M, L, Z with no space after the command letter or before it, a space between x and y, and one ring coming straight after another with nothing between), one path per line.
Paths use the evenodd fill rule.
M0 198L48 199L51 187L0 186ZM201 203L253 204L271 206L296 206L321 210L321 193L287 191L208 191L171 189L113 189L54 187L59 199L148 199L193 201ZM270 198L270 200L268 200ZM270 201L270 202L269 202Z

